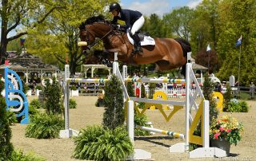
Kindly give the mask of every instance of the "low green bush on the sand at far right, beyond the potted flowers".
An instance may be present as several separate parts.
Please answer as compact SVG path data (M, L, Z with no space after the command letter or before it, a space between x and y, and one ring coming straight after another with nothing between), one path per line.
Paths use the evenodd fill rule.
M239 102L230 101L226 111L227 112L248 112L249 106L245 101L239 101Z

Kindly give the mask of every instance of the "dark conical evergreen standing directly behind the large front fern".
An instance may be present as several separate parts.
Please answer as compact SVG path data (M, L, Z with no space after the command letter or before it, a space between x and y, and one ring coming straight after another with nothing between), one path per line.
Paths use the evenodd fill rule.
M103 126L114 129L125 121L121 82L113 75L105 84Z

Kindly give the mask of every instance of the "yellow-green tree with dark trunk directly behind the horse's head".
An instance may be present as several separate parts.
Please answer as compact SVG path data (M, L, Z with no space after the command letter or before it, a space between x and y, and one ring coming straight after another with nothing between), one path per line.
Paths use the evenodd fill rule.
M78 47L78 26L91 16L105 14L104 7L113 0L79 0L66 2L66 10L54 10L44 26L34 29L30 35L30 53L40 54L64 66L69 61L70 73L74 74L88 55ZM102 45L98 47L102 48ZM97 49L97 46L96 46ZM88 53L86 53L88 54ZM51 57L49 57L51 55ZM68 57L68 60L66 60Z

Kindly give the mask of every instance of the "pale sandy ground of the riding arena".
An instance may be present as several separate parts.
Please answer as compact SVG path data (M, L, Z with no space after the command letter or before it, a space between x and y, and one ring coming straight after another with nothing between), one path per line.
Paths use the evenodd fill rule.
M29 97L29 100L35 97ZM77 96L73 97L78 103L78 108L70 109L70 128L79 130L88 125L102 124L104 108L94 106L96 96ZM242 141L237 146L231 145L230 157L222 159L189 159L188 154L170 153L169 147L174 143L181 143L182 139L170 139L164 135L150 135L148 137L135 138L134 147L142 148L152 154L152 160L256 160L256 101L247 101L250 105L248 113L230 113L244 125ZM168 113L168 111L166 111ZM221 113L220 116L227 113ZM174 132L185 132L185 111L182 109L166 122L157 110L148 110L146 115L153 123L154 128ZM25 137L26 125L15 124L11 127L13 137L11 142L15 148L25 152L33 152L47 160L68 161L72 159L74 151L73 139L31 139Z

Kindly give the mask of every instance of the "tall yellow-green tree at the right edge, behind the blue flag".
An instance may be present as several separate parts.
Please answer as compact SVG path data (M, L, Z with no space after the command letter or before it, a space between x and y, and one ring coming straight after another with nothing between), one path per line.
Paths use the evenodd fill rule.
M222 68L217 76L221 80L228 80L230 75L240 84L249 85L256 80L256 2L254 0L226 0L219 5L218 26L218 56L222 61ZM242 35L242 49L235 47L235 41ZM239 69L240 58L240 69Z

